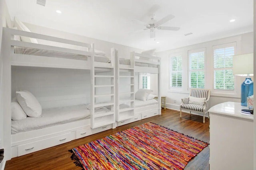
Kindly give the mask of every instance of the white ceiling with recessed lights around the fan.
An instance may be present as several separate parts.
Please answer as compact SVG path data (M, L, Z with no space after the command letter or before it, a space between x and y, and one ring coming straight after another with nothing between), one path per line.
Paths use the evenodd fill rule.
M144 50L165 51L253 31L253 0L46 0L46 6L36 0L5 1L10 16L23 22ZM156 39L150 39L149 30L133 19L150 21L146 14L155 4L160 6L155 19L172 14L175 18L163 26L180 30L156 30Z

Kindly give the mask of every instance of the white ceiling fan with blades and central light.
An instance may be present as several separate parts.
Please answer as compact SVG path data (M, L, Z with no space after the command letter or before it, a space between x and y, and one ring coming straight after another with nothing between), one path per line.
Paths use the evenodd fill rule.
M158 5L154 5L152 6L152 8L150 8L148 15L150 16L150 21L149 23L145 23L143 21L140 20L133 20L133 21L137 21L140 24L143 24L146 26L145 29L143 30L150 30L150 38L154 38L155 34L156 34L156 29L162 29L162 30L171 30L171 31L178 31L180 29L180 27L169 27L169 26L162 26L164 23L172 20L175 16L173 16L172 14L169 14L167 16L165 16L164 18L162 18L159 21L155 20L155 12L156 10L158 10L160 8L160 6Z

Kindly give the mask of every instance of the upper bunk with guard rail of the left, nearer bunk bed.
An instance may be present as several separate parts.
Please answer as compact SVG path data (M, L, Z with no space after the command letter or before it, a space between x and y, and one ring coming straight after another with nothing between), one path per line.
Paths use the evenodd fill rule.
M114 56L108 59L101 51L94 50L94 44L10 28L3 28L3 37L5 56L13 66L90 70L94 65L98 68L114 68L114 62L111 62ZM38 39L44 43L20 41L19 37Z

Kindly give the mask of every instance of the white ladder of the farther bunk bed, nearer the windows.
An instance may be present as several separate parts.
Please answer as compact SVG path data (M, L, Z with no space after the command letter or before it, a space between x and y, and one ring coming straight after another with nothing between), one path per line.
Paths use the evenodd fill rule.
M130 123L134 117L134 55L130 56L130 67L120 68L116 50L116 122L117 125ZM126 104L129 107L122 107ZM122 105L122 106L121 106ZM121 106L121 107L120 107Z

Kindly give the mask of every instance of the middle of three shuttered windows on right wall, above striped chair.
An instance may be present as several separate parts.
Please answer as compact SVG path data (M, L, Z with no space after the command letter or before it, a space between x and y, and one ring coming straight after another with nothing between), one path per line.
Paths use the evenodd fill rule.
M188 51L189 88L205 87L205 49Z

